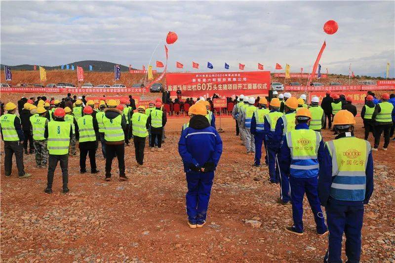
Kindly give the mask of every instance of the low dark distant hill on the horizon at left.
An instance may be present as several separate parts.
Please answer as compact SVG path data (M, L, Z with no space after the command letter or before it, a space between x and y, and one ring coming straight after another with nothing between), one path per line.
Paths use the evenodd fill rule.
M65 64L66 65L66 64ZM111 72L114 71L114 66L115 65L119 65L120 70L122 72L127 72L129 71L129 67L120 65L120 64L116 64L116 63L112 63L112 62L107 62L107 61L98 61L98 60L83 60L83 61L77 61L77 62L73 62L73 63L69 63L68 65L70 65L70 69L71 69L71 65L74 65L74 70L77 70L77 66L82 67L84 71L89 71L89 65L93 66L93 71L99 71L99 72ZM8 66L8 65L7 65ZM39 66L39 65L38 65ZM42 66L44 67L45 70L60 70L61 66L54 66L54 67L49 67L49 66ZM11 70L33 70L34 65L17 65L17 66L8 66L10 67ZM3 64L1 64L1 69L3 69ZM66 66L65 68L66 69Z

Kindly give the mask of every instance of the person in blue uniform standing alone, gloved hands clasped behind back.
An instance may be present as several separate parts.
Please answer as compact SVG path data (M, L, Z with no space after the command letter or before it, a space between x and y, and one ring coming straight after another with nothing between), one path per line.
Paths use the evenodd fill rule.
M203 104L196 104L190 112L192 117L189 126L181 133L178 152L184 164L188 187L187 224L197 228L206 223L214 171L222 154L222 140L205 117L207 111Z

